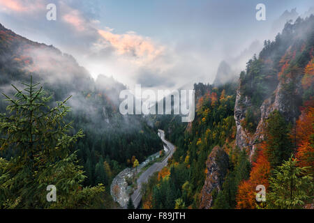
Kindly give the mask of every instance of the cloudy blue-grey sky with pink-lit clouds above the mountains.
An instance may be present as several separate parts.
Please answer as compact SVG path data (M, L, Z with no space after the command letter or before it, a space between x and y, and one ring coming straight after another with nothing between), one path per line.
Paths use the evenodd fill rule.
M57 6L55 21L46 19L49 3ZM256 20L258 3L266 20ZM244 69L292 8L304 15L313 6L313 0L0 0L0 23L73 55L94 79L177 89L212 83L223 60L234 72Z

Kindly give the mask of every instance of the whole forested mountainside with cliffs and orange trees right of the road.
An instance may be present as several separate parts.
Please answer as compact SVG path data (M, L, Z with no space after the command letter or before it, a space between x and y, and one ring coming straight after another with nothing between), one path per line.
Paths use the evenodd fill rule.
M239 82L194 85L192 123L154 117L177 151L142 207L313 208L313 49L313 15L288 22Z

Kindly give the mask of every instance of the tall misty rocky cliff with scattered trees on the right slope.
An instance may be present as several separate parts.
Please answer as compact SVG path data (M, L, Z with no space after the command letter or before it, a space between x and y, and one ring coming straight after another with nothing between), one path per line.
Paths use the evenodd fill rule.
M302 101L309 100L302 83L306 66L313 63L313 36L313 16L286 24L275 41L265 42L258 59L249 61L240 76L234 106L236 145L249 151L250 159L265 137L269 114L278 110L293 125Z

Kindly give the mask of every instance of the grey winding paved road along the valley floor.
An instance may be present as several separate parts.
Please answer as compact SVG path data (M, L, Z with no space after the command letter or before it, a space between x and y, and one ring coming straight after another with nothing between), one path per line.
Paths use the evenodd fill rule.
M146 183L151 175L153 175L156 171L160 171L161 169L163 169L163 167L167 166L169 158L172 157L172 154L174 153L174 145L165 140L165 132L163 132L163 130L158 130L158 132L160 134L160 139L163 140L164 144L167 145L169 151L167 153L167 157L165 157L162 162L155 162L153 165L151 165L151 167L149 167L149 169L144 171L139 178L137 178L137 190L135 190L135 192L133 192L133 194L131 195L135 208L137 208L142 199L142 183Z

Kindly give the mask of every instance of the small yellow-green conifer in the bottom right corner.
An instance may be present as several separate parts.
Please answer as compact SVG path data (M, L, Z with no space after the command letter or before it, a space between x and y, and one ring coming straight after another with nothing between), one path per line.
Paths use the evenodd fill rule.
M292 156L274 171L270 178L271 192L267 194L269 208L303 208L313 202L313 177L307 174L308 167L297 167Z

